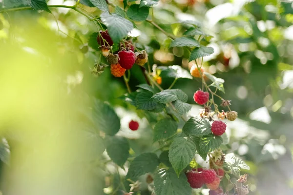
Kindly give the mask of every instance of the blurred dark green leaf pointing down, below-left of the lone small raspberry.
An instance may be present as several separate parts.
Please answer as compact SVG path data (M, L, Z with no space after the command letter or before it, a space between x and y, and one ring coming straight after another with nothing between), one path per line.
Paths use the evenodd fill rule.
M106 151L118 166L123 167L129 156L129 143L125 137L107 137Z

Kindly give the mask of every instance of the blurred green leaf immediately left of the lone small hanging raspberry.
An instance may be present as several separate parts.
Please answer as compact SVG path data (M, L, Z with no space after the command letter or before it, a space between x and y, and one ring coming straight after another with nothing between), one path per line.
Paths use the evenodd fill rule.
M95 123L99 130L109 136L114 136L119 131L120 118L108 104L96 100L93 112Z

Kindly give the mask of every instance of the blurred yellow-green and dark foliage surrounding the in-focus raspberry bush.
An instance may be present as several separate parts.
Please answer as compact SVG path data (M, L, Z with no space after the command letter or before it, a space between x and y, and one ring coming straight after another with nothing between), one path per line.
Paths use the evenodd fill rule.
M5 3L5 0L0 2ZM48 1L48 5L75 3L70 0ZM81 3L89 5L89 7L82 5L88 15L99 16L100 11L90 7L86 0L81 0ZM123 7L122 1L116 0L112 3ZM11 7L13 6L11 4ZM44 165L62 170L65 165L55 163L54 160L64 157L70 168L82 166L83 168L78 170L91 170L88 171L90 174L84 174L86 175L84 178L95 178L91 180L95 182L88 185L92 185L92 189L100 179L103 182L99 187L105 188L104 193L107 194L107 188L111 183L109 181L114 181L114 184L116 181L119 184L119 176L114 174L114 167L111 165L107 165L106 169L97 168L99 166L96 166L95 158L101 156L101 152L92 149L97 143L97 137L93 137L92 142L85 141L83 137L88 135L80 136L79 126L75 123L71 124L72 121L74 118L79 118L81 108L85 109L90 104L89 97L107 101L115 106L118 116L121 117L122 127L118 135L130 138L132 153L140 154L155 148L149 142L151 139L149 123L152 124L154 120L150 113L146 113L147 120L140 118L143 116L140 111L135 111L135 107L119 98L126 93L126 87L123 79L111 76L109 68L106 68L98 78L91 75L95 60L100 57L100 53L96 51L95 36L100 29L95 23L74 10L51 8L51 12L26 10L0 14L2 97L0 158L2 167L10 167L2 169L6 171L1 172L3 178L1 190L16 195L22 194L17 190L17 186L25 184L29 186L33 185L33 182L40 182L39 184L42 185L42 180L37 178L24 182L24 178L31 174L30 170L38 167L37 164L24 162L27 158L29 158L27 162L34 162L32 156L38 155L36 159L40 159L40 156L46 159L41 148L50 152L47 147L52 145L56 150L63 152L66 148L72 147L71 150L79 153L86 149L95 153L70 154L71 157L68 158L64 157L65 153L62 152L55 156L52 154L52 162L44 161L43 166L40 166L40 172ZM160 0L152 8L151 13L160 27L175 36L182 36L186 30L194 27L192 24L196 24L209 35L203 42L206 41L215 52L204 58L204 68L216 77L225 79L226 93L219 93L223 98L231 100L231 109L238 112L237 120L226 121L228 123L226 142L229 144L223 150L243 156L251 166L251 170L247 171L250 176L251 194L293 194L293 2L291 0ZM148 22L135 22L134 25L135 29L129 36L137 47L146 48L150 64L159 67L182 65L189 70L192 62L188 63L188 50L179 47L169 48L171 40ZM105 59L103 60L106 63ZM167 88L172 81L162 75L161 86ZM141 83L146 83L144 76L140 68L134 66L131 69L130 88L135 90ZM180 78L174 88L182 89L187 93L188 103L192 104L191 97L200 87L201 82L197 78L193 80ZM44 99L45 102L42 101ZM217 103L221 103L220 99ZM199 109L199 106L194 105L189 114L196 115ZM79 112L75 112L76 110ZM43 113L44 111L46 114ZM85 109L82 113L90 112ZM67 119L68 116L71 120ZM134 118L140 120L143 128L137 132L130 132L127 124ZM34 122L36 120L38 122ZM72 126L74 133L70 139L66 131ZM27 131L26 128L29 127L38 129L42 132L41 135ZM60 127L67 130L60 132L58 131L62 129ZM44 133L48 129L50 131ZM56 141L55 134L61 134L63 137ZM52 139L46 140L43 136ZM42 143L44 140L46 143ZM78 142L82 144L76 144L76 141L82 141ZM13 147L15 142L16 148ZM25 149L23 145L41 148L29 157L27 156L29 149ZM82 150L80 147L85 148ZM25 155L16 156L13 151ZM89 159L90 167L85 167L83 163L71 165L71 160L78 156ZM22 162L23 180L19 178L19 183L14 182L14 190L8 185L12 185L13 182L9 181L20 175L14 176L13 173L18 170L12 165L5 165L9 162L9 158L10 160L16 158ZM70 168L68 170L71 170ZM93 172L93 169L96 172ZM104 174L101 174L102 172ZM66 173L64 171L64 175ZM122 169L120 173L125 174ZM83 173L71 174L71 178L76 178L75 182L85 182L81 181ZM58 175L60 177L56 175L54 178L63 178L63 181L70 185L73 181L68 181L70 176L64 175L62 176L61 173ZM52 184L56 182L52 179ZM45 186L49 188L50 184ZM86 187L70 193L80 194L78 192L85 192L85 189ZM53 191L50 189L48 192L52 194ZM56 191L55 194L62 194L60 192ZM64 191L63 194L67 193L69 191ZM205 191L201 193L205 194ZM88 191L88 194L95 193Z

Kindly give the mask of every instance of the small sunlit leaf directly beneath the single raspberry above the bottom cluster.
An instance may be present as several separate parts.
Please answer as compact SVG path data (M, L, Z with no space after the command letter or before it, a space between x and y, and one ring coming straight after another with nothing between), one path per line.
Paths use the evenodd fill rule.
M202 154L207 154L221 146L223 138L220 136L207 135L199 141L199 150Z

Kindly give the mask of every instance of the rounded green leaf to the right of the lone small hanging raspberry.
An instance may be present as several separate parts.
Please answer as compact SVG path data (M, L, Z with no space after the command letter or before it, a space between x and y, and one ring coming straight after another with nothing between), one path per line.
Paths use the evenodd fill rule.
M159 120L154 128L153 141L155 142L173 136L177 131L177 127L177 122L170 118Z

